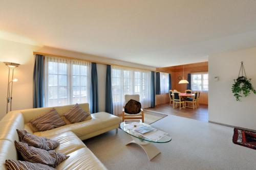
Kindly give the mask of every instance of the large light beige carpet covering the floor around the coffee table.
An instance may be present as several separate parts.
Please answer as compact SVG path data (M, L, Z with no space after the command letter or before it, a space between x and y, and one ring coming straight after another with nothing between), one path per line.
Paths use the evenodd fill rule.
M110 170L114 169L255 169L256 151L232 143L233 129L168 115L153 123L173 140L156 143L161 151L151 162L131 136L121 129L85 140Z

